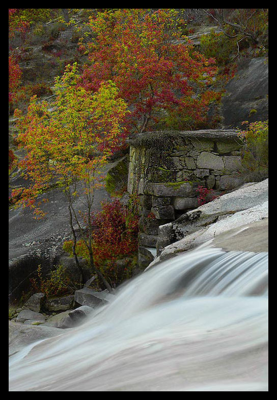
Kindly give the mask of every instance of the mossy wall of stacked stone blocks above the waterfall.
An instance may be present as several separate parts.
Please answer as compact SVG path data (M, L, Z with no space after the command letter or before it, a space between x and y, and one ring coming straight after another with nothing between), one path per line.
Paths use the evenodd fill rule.
M241 184L241 142L235 130L147 132L130 141L128 192L140 195L138 262L155 256L159 226L199 207L199 186L211 195Z

